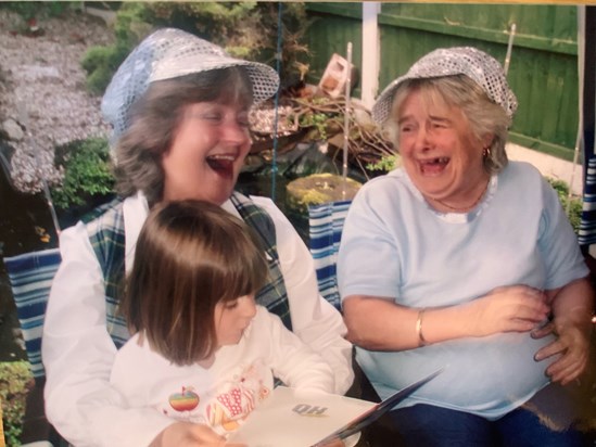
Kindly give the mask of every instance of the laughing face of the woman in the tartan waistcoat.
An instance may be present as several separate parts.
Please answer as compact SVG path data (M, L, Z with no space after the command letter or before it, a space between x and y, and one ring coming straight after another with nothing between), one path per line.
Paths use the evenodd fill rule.
M162 158L164 200L223 204L233 191L250 148L246 107L220 102L189 105Z

